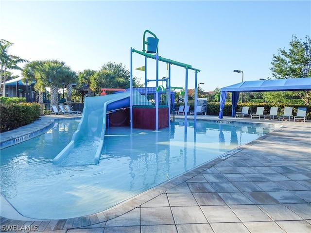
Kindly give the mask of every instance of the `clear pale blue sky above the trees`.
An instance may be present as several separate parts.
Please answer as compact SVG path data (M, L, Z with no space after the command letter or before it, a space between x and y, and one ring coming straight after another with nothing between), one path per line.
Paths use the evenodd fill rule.
M131 48L143 49L145 30L159 39L159 56L200 69L197 83L213 91L242 82L234 69L244 81L274 79L273 54L288 50L293 35L311 36L311 0L0 0L0 39L14 43L10 54L63 61L76 72L108 62L130 70ZM144 83L135 69L144 56L132 55L133 76ZM147 79L156 78L154 59L147 59L147 71ZM166 63L159 62L158 77L167 77ZM194 80L189 70L189 89ZM171 66L171 86L185 88L184 67Z

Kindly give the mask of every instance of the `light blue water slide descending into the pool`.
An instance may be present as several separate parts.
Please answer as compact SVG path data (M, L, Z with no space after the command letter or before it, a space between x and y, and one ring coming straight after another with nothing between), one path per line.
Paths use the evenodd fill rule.
M140 96L136 91L133 92L133 95ZM90 153L93 153L94 164L98 164L104 145L106 113L128 107L130 107L130 92L86 98L78 129L72 135L69 144L53 159L53 164L59 164L72 153L74 156L89 156ZM98 145L96 152L88 151L91 145L95 145L95 148Z

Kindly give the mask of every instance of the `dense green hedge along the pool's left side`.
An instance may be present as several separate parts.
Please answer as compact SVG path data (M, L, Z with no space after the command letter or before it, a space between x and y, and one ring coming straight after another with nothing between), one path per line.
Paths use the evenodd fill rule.
M30 124L39 118L40 105L37 103L0 104L0 132Z

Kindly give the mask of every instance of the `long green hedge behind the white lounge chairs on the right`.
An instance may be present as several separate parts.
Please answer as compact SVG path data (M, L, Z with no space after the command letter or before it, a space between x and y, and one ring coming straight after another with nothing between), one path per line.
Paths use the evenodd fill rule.
M184 103L175 103L175 110L178 110L179 105L184 105ZM190 105L190 110L194 110L194 102L189 101L188 105ZM311 105L301 105L301 104L269 104L269 103L239 103L236 107L236 112L241 112L243 106L249 106L250 113L256 113L257 107L264 107L263 114L269 114L271 107L278 107L277 115L280 116L283 114L284 107L293 107L293 116L297 115L298 107L306 107L307 108L307 119L311 120ZM220 111L219 103L207 103L207 115L210 116L218 116ZM231 116L232 105L231 102L226 102L224 107L224 116Z

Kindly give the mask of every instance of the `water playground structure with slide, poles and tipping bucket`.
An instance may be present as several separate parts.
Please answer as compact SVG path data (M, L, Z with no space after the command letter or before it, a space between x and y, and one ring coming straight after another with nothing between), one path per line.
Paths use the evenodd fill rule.
M148 37L145 40L146 33L151 33L154 37ZM145 50L145 45L147 45L147 50ZM133 88L133 53L138 53L145 57L144 88ZM155 55L151 53L155 53ZM147 58L156 60L155 80L147 79ZM166 82L166 87L159 85L159 61L168 64L168 77L160 80ZM131 131L133 128L158 131L159 129L169 127L171 105L174 106L174 92L171 92L171 64L186 69L185 93L188 93L188 71L189 69L195 71L194 128L196 128L197 73L200 70L159 56L158 39L154 33L146 30L143 35L143 50L138 51L131 48L130 89L126 91L118 88L102 88L101 96L87 97L77 131L73 134L69 144L53 159L53 164L59 164L66 156L72 154L74 156L74 153L83 153L82 148L85 146L90 147L90 144L95 145L94 164L98 164L104 146L105 130L109 125L121 126L129 122ZM155 82L155 87L147 87L148 82ZM105 91L121 91L121 93L106 95ZM150 95L153 97L150 98ZM188 106L188 95L185 95L184 103L185 107ZM128 115L129 119L127 119ZM117 122L111 122L113 119L118 120ZM184 123L186 126L187 115L185 115ZM187 127L185 127L186 132ZM86 145L83 145L83 143Z

